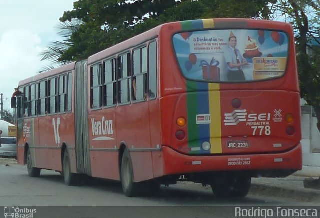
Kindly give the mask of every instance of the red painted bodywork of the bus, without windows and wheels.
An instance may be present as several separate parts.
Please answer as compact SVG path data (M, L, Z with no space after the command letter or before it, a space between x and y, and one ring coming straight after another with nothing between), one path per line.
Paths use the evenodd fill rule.
M263 27L287 33L290 43L284 76L243 83L186 79L176 60L172 37L196 29L192 29L192 23L189 29L183 27L182 22L163 24L92 55L87 62L88 81L93 65L155 41L158 90L155 99L98 109L90 107L90 94L88 99L83 99L88 108L89 144L85 146L89 149L90 176L120 180L123 148L130 151L135 182L196 172L302 168L300 97L291 25L246 19L210 19L209 22L214 23L210 29ZM69 70L75 81L75 63L72 63L50 71L49 75L23 80L19 86ZM74 99L74 82L72 85ZM90 93L90 82L83 88ZM234 99L241 101L240 107L232 106ZM71 171L79 172L74 111L73 102L72 112L24 118L24 123L18 126L18 163L25 164L24 149L28 145L34 152L34 166L61 171L64 144L70 153ZM232 113L235 117L230 118ZM287 114L294 118L292 122L285 121ZM208 121L201 120L206 116ZM244 117L239 121L236 116ZM185 118L184 126L177 125L179 117ZM58 120L60 142L56 143L54 128ZM289 127L295 129L291 135L287 134ZM185 137L177 139L176 132L180 130ZM209 142L211 148L203 150L203 142ZM237 142L244 143L245 147L231 146Z

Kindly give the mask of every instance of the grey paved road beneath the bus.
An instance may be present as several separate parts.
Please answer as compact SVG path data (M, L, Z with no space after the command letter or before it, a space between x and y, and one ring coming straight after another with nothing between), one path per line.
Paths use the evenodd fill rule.
M5 166L6 164L8 166ZM65 215L65 213L71 212L75 213L72 214L74 217L99 217L98 215L90 216L90 214L96 214L99 211L102 213L106 210L110 215L108 217L113 217L111 215L121 217L120 213L123 214L123 217L130 215L130 218L136 215L140 215L136 217L141 217L141 215L143 215L142 217L172 217L173 215L181 215L178 217L182 217L183 215L184 218L212 218L234 216L235 206L304 205L309 207L320 203L320 198L318 198L320 195L309 199L290 195L291 192L283 195L287 192L286 189L283 188L282 191L281 187L272 189L272 186L269 186L268 181L264 179L262 179L263 183L255 182L245 198L217 198L213 195L210 187L202 187L200 184L189 182L182 182L170 187L161 186L160 192L155 196L128 198L123 195L119 182L94 179L92 184L88 186L66 186L62 176L54 171L42 170L39 178L29 177L26 167L17 165L14 160L1 161L0 159L0 175L1 206L18 205L20 208L23 206L31 208L36 208L36 206L91 206L72 207L72 210L67 207L38 208L38 215L41 210L44 210L46 217L50 217L49 215L55 217L56 213ZM289 181L289 183L291 182ZM300 194L298 193L298 195ZM221 207L225 205L232 207ZM94 208L92 206L119 207ZM131 216L132 212L134 212L134 216ZM100 215L103 217L102 214Z

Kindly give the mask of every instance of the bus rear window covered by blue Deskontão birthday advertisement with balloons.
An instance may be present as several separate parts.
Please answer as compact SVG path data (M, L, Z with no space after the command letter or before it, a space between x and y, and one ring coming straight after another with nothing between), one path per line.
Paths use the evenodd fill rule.
M245 82L281 77L288 37L280 31L228 29L181 32L173 46L185 78Z

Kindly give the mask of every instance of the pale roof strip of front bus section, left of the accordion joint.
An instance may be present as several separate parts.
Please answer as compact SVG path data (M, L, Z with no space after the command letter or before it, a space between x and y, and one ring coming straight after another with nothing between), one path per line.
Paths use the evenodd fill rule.
M33 81L38 81L38 80L41 80L41 79L44 79L44 78L48 78L50 76L53 76L53 75L56 75L56 74L59 74L59 73L62 73L62 72L73 70L74 67L75 67L75 63L76 63L76 61L72 62L72 63L69 63L69 64L66 64L66 65L63 65L61 67L49 70L49 71L44 72L44 73L38 73L35 76L32 76L32 77L29 77L27 79L21 80L19 82L19 86L31 83Z

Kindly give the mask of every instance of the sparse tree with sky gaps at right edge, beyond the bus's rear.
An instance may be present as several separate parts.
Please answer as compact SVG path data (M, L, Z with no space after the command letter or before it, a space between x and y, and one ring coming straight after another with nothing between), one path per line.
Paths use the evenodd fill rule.
M318 0L277 0L275 16L285 18L295 29L301 97L313 106L320 129L320 2ZM311 45L311 40L313 45ZM311 52L309 52L311 51ZM312 55L310 55L312 53Z

